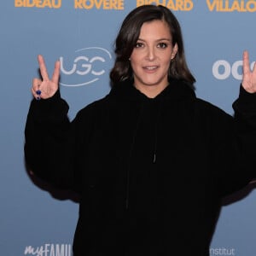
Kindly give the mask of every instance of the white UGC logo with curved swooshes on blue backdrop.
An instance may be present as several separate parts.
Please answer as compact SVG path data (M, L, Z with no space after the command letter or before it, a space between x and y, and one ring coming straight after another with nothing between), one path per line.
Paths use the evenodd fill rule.
M112 56L108 49L88 47L78 49L71 56L60 57L63 86L83 86L99 80L108 72Z

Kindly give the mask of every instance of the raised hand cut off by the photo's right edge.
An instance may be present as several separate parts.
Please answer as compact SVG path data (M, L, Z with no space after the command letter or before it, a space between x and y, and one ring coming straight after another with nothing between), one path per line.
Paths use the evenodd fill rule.
M243 52L242 61L243 74L241 85L247 92L254 93L256 92L256 61L253 66L253 71L251 71L247 50Z

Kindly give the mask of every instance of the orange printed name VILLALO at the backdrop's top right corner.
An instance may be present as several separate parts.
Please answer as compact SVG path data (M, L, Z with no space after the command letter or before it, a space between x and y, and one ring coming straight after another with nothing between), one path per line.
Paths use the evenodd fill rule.
M207 0L208 9L216 12L255 12L255 0Z

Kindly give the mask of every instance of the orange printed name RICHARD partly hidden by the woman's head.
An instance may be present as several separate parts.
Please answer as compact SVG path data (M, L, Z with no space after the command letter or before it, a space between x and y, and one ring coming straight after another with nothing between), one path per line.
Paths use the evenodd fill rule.
M137 0L137 7L144 4L163 5L168 9L190 11L194 8L192 0Z

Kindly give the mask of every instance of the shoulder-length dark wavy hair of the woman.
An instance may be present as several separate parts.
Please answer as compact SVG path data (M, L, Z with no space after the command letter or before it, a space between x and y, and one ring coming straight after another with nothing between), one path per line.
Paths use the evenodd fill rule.
M169 67L169 77L183 79L193 85L195 78L192 73L190 73L185 60L180 25L171 10L161 5L143 5L133 9L131 13L125 17L115 40L114 52L116 59L110 72L112 84L132 78L133 72L129 58L134 46L137 44L143 23L152 20L166 21L172 35L172 46L177 44L177 54Z

